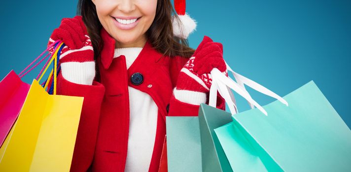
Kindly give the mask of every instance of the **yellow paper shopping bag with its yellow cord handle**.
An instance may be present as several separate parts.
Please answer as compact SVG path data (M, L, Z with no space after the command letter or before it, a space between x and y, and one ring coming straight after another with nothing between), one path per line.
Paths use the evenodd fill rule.
M21 113L0 148L0 172L70 171L83 97L55 95L56 86L54 90L54 95L49 95L33 81Z

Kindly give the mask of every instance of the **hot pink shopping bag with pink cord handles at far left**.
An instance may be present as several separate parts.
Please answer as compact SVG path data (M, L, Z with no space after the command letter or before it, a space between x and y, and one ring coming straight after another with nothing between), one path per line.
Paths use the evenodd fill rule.
M57 41L54 43L56 44ZM48 46L48 48L43 53L41 53L39 57L35 58L35 60L30 65L28 65L19 75L11 70L0 82L0 147L2 146L2 143L4 142L7 134L15 123L30 88L30 85L22 82L21 78L33 70L46 57L48 57L49 54L43 57L38 63L36 63L34 67L29 69L29 67L32 66L32 64L34 64L35 61L44 55L44 53L47 52L48 49L52 46L54 46L54 44ZM27 69L29 70L27 71Z

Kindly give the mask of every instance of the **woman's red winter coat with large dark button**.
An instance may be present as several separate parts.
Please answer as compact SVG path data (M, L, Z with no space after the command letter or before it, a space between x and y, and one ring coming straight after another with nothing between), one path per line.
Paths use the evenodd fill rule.
M180 102L173 96L178 73L188 58L162 57L147 41L127 70L124 56L113 58L115 40L105 29L101 36L104 47L96 61L100 82L86 86L70 83L61 74L58 77L58 94L84 97L70 171L124 172L129 133L128 86L132 86L149 94L158 107L149 168L149 172L157 172L166 134L166 115L198 115L199 106ZM140 85L131 82L134 73L142 74ZM217 105L224 110L225 103L220 96Z

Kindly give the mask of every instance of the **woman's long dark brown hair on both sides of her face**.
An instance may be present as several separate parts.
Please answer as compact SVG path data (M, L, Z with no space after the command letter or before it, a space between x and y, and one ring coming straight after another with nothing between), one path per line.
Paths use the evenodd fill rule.
M189 58L194 54L194 50L189 47L187 39L173 35L172 14L175 15L175 20L179 21L170 0L157 0L155 19L146 31L147 39L153 48L164 56ZM87 27L93 44L94 58L96 59L100 56L103 47L103 41L100 36L102 25L92 0L78 0L77 15L83 17L83 22Z

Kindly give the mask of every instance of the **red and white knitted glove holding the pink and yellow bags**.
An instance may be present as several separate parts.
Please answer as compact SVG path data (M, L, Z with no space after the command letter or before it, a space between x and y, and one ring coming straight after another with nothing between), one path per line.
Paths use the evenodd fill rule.
M82 17L62 19L60 27L52 32L48 45L56 40L66 44L60 56L62 76L75 84L92 85L95 77L94 51ZM51 48L49 52L53 53L53 50Z

